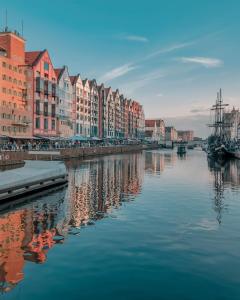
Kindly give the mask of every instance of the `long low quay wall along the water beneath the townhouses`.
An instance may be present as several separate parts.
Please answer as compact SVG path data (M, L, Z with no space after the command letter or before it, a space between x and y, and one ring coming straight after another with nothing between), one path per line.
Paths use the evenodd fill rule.
M85 158L88 156L99 156L136 152L159 148L159 145L117 145L104 147L79 147L64 148L47 151L1 151L0 166L17 165L25 160L67 160L71 158Z

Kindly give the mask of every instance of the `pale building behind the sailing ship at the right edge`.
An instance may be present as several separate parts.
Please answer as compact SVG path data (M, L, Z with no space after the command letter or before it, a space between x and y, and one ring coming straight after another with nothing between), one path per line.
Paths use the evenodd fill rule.
M240 139L240 111L233 108L230 112L224 112L223 121L227 125L225 135L229 139Z

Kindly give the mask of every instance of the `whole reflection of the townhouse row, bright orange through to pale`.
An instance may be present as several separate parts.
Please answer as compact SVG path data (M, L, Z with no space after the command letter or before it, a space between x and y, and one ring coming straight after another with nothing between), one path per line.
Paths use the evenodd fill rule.
M44 263L48 251L76 228L93 224L141 191L144 155L108 156L68 162L68 189L0 215L0 288L24 278L26 261ZM78 232L79 233L79 232Z

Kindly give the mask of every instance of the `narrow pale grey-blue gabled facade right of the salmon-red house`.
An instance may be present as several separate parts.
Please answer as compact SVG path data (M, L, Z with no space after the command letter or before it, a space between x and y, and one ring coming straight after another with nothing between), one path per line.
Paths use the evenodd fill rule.
M58 83L59 97L57 102L58 135L60 137L71 137L74 135L75 103L74 89L68 73L67 66L55 69Z

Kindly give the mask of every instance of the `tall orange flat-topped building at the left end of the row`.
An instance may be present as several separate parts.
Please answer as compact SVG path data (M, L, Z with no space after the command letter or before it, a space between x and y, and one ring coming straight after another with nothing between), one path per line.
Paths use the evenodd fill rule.
M25 40L16 32L0 32L0 136L32 136L28 96Z

